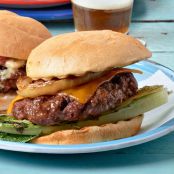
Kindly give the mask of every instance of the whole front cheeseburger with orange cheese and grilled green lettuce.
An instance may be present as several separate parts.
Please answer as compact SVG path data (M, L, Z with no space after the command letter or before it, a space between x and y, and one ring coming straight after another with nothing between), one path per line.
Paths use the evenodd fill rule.
M18 97L8 109L17 123L30 123L15 133L35 135L32 142L42 144L135 135L143 113L167 101L162 86L138 89L133 73L142 72L123 68L149 57L139 41L109 30L44 41L29 55L27 74L18 79Z

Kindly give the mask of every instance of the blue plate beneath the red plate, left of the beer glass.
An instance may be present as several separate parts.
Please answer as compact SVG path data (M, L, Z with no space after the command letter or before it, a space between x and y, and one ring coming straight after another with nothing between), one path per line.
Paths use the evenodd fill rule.
M59 21L72 19L70 5L45 9L15 9L0 7L0 10L9 10L21 16L31 17L39 21Z

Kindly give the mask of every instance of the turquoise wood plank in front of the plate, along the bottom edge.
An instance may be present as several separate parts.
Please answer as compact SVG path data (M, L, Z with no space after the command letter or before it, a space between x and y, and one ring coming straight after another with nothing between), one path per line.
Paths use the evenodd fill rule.
M159 144L157 144L159 145ZM137 146L138 148L138 146ZM155 146L159 148L159 146ZM129 151L129 149L127 149ZM0 171L7 173L48 174L135 174L159 173L172 174L173 154L119 154L110 151L78 155L46 155L0 151Z

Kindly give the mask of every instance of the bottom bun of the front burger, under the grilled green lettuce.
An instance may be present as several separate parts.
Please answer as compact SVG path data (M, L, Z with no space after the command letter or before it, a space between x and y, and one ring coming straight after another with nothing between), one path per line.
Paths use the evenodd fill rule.
M142 120L143 116L141 115L115 124L108 123L101 126L84 127L79 130L57 131L50 135L35 138L32 143L50 145L89 144L126 138L137 134Z

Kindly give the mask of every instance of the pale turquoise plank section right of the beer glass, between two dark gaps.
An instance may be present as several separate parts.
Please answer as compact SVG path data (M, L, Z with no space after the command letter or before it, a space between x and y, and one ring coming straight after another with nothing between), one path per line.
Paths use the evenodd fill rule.
M174 52L174 23L132 23L130 34L145 40L153 52Z

